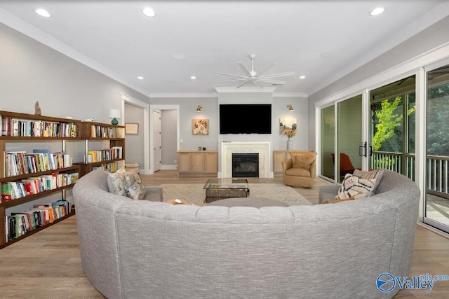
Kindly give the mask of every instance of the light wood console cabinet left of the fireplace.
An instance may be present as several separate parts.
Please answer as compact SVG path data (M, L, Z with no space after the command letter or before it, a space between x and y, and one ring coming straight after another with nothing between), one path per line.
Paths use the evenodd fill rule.
M218 151L178 151L178 174L217 174Z

